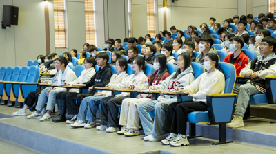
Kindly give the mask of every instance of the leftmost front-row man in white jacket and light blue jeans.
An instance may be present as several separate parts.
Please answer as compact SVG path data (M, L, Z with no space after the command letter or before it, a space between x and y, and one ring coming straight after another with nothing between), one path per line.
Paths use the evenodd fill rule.
M65 57L57 58L55 61L55 67L59 69L59 77L57 84L63 84L65 82L71 82L77 78L75 72L67 66L68 61ZM54 105L56 102L56 96L60 91L65 91L65 88L56 87L47 90L41 91L39 100L37 102L37 107L35 108L37 111L32 113L31 115L27 116L28 119L40 118L41 117L41 110L43 109L44 105L47 102L46 111L47 113L40 118L40 121L47 121L52 119L52 110L54 109Z

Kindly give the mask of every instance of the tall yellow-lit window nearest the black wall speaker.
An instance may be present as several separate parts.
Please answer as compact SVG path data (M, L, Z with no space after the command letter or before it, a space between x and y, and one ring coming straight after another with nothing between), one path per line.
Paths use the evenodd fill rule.
M55 23L55 47L66 48L64 0L53 0Z

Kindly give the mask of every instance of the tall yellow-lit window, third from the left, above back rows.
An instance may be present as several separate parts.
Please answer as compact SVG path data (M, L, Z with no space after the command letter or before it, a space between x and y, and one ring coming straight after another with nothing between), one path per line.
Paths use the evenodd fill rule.
M147 0L148 34L155 36L155 0Z

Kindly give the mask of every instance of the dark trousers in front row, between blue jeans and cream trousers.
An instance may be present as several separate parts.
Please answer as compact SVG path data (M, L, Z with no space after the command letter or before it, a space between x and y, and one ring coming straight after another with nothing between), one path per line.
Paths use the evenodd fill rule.
M108 126L118 127L119 126L119 107L125 98L129 97L117 97L108 100Z

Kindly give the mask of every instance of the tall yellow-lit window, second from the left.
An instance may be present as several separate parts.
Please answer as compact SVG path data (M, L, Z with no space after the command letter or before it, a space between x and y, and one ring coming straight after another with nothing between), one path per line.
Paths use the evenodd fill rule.
M94 0L84 0L86 14L86 43L95 45Z

